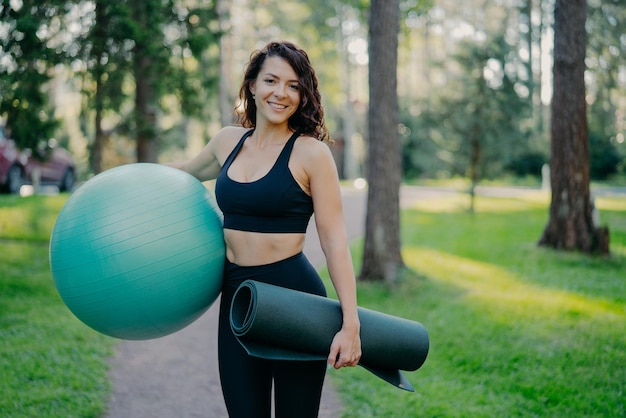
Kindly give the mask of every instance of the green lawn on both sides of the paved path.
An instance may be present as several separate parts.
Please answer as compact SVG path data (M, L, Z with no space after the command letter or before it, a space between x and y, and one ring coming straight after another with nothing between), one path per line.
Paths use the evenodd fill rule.
M115 340L68 311L49 271L66 199L0 196L1 417L95 418L110 391ZM331 371L344 418L625 416L626 198L597 205L610 258L537 248L541 194L478 198L474 215L460 195L403 211L409 271L393 288L359 283L359 304L422 322L431 351L407 373L415 393Z

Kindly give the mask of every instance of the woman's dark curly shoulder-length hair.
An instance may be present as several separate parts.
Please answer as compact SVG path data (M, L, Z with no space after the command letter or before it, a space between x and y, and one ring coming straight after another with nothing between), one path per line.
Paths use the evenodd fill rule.
M298 76L300 105L298 110L289 118L289 128L320 141L329 141L315 70L308 54L291 42L270 42L262 49L252 53L239 89L240 103L238 107L242 107L243 110L237 111L236 109L237 122L246 128L256 126L257 107L250 91L250 84L258 77L267 57L284 59Z

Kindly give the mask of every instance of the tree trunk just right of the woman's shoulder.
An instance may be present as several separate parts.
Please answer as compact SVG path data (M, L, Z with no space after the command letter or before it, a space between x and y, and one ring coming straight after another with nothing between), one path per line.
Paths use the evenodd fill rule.
M370 6L369 149L362 280L396 281L404 267L400 248L402 158L398 134L399 0Z

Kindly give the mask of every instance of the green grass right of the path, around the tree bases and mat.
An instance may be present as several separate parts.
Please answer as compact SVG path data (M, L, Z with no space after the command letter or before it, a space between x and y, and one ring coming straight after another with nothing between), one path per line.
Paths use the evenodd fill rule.
M541 194L479 198L474 215L463 199L404 211L403 280L359 283L361 306L428 329L416 392L332 371L343 417L626 416L626 199L598 200L610 258L538 248Z

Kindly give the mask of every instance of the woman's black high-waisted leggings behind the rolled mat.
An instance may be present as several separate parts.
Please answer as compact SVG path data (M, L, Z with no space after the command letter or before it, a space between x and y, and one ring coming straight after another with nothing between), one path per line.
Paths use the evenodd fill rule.
M226 260L220 302L218 357L222 393L231 418L269 418L272 379L275 416L317 417L325 361L276 361L249 356L232 333L230 304L247 279L326 296L317 271L304 254L261 266L238 266Z

